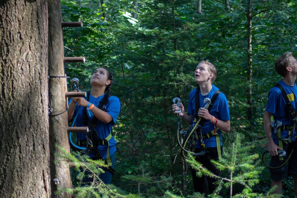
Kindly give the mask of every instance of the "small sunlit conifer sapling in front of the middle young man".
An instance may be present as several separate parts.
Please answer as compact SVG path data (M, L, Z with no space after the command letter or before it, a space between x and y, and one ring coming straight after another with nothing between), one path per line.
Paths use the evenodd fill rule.
M262 193L258 194L253 192L252 187L259 183L259 174L264 169L260 166L260 160L257 160L258 154L250 154L252 145L243 146L241 144L240 137L242 135L236 135L236 142L231 144L230 148L226 148L223 153L223 158L219 161L211 160L217 169L223 171L226 177L218 177L212 172L204 168L199 162L197 162L193 156L189 156L188 160L195 170L198 170L198 176L207 175L209 177L217 178L218 188L211 197L218 197L217 193L222 189L222 187L227 187L230 189L230 197L275 197L271 195L275 187L268 190L267 195L264 196ZM233 194L233 187L236 183L241 184L243 189L238 194ZM280 197L280 196L279 196Z

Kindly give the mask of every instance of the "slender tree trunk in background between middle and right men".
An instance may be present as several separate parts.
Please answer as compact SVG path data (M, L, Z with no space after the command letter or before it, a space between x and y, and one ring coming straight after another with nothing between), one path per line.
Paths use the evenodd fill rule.
M252 10L251 1L249 0L249 6L247 9L247 59L248 59L248 70L247 70L247 81L250 83L247 89L247 104L249 108L247 110L248 120L250 122L250 129L254 128L253 121L253 107L252 107Z

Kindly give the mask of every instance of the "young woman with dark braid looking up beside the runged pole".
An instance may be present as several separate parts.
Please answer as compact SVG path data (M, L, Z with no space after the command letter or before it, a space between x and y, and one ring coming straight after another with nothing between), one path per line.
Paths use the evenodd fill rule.
M75 120L75 126L81 127L83 125L83 109L88 107L88 114L90 120L94 116L98 119L98 123L95 127L99 139L104 140L110 134L112 126L116 122L116 118L120 112L120 100L116 96L110 95L110 89L113 82L113 77L110 71L105 67L97 68L90 80L92 85L90 96L88 101L83 97L73 97L69 101L68 121L71 121L72 118L78 113L78 117ZM99 102L106 95L105 107L106 111L97 108ZM94 104L94 105L93 105ZM80 111L78 112L78 107L81 106ZM85 133L77 133L78 141L86 141ZM112 161L112 168L114 167L115 161L115 152L116 152L116 140L112 137L109 141L109 153ZM106 161L108 144L99 145L98 151ZM91 159L94 157L94 152L89 153ZM103 168L104 169L104 168ZM101 173L99 178L105 183L109 184L111 181L111 174L106 169L105 173Z

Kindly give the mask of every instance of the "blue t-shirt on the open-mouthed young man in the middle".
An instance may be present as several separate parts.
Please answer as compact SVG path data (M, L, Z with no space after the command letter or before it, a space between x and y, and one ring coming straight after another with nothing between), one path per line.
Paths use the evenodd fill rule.
M217 90L219 89L216 86L212 85L211 91L205 96L202 96L201 92L199 91L199 107L204 107L204 103L203 103L204 99L205 98L211 99L211 97L214 95L214 93ZM198 113L198 110L199 110L199 109L198 110L195 109L195 93L196 93L196 89L193 89L189 94L188 113L192 116ZM221 121L230 120L228 102L227 102L226 96L223 93L220 93L218 95L209 113L210 115L213 115L215 118L218 118L218 120L221 120ZM195 118L193 117L191 128L196 124L194 120ZM214 130L214 125L209 120L206 120L206 122L202 126L202 134L206 134L212 130ZM216 129L216 133L218 133L220 136L221 146L222 146L222 134L218 128ZM217 147L215 135L211 136L210 139L204 138L203 141L206 148ZM195 148L200 148L200 141L197 142L197 144L195 145Z

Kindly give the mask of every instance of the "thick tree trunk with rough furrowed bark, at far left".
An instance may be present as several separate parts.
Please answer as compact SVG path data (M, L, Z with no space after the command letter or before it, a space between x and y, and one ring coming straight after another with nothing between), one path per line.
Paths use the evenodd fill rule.
M0 1L0 197L50 197L48 1Z

